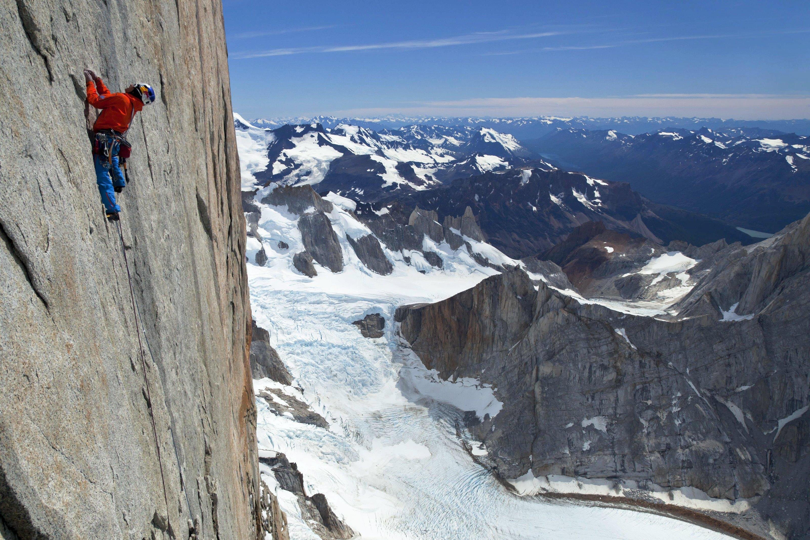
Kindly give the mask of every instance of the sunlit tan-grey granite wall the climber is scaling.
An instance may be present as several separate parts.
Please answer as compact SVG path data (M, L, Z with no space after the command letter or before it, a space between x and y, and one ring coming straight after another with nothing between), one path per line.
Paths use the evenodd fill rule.
M219 0L8 1L0 28L4 538L189 538L189 519L198 538L256 538L245 219ZM143 81L158 96L134 118L120 198L156 437L85 132L85 67L113 91Z

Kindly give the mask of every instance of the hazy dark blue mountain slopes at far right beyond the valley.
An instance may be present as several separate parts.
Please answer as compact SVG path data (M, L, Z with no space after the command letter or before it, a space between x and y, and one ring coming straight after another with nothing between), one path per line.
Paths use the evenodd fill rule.
M524 145L650 199L775 232L810 211L810 137L759 128L559 129Z

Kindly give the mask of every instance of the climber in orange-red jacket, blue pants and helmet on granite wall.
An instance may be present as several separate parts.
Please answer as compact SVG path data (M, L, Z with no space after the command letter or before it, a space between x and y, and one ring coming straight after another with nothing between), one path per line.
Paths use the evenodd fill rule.
M115 193L121 193L126 186L120 165L124 164L126 169L126 158L130 156L131 147L126 140L126 132L130 130L135 113L155 100L155 91L148 84L134 83L126 87L123 93L113 94L93 70L84 70L84 80L87 83L87 102L101 109L93 124L96 135L93 143L96 184L107 219L117 221L121 206L115 202Z

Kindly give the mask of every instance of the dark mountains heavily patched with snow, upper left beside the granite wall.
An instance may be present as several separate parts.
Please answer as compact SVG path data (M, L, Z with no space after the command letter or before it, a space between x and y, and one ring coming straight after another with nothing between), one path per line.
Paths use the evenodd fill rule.
M316 185L364 202L528 163L531 151L486 127L411 125L369 130L313 122L260 128L236 115L243 168L258 185ZM247 156L247 157L245 157ZM552 169L542 161L535 166Z

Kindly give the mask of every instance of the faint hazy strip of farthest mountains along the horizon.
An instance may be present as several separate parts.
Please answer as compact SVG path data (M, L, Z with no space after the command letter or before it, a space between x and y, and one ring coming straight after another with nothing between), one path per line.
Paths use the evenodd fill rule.
M475 117L297 117L285 119L258 118L251 121L262 128L275 129L284 124L318 123L326 129L341 124L357 125L369 130L397 130L407 125L433 125L453 128L488 127L502 134L513 135L518 140L543 137L557 128L578 130L617 130L620 133L637 135L666 128L699 130L702 127L711 130L728 128L760 128L778 130L785 133L810 135L810 120L734 120L723 118L700 117L523 117L523 118L475 118Z

